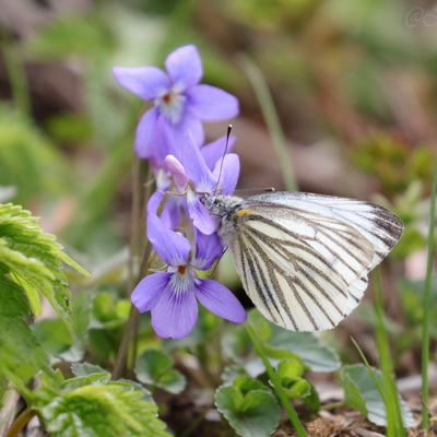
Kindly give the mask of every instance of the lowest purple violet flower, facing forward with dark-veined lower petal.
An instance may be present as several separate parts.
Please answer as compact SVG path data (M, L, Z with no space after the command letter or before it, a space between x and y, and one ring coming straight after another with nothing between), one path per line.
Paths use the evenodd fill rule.
M164 338L184 339L198 319L197 299L211 312L235 323L246 320L241 304L224 285L196 275L194 269L208 270L222 256L216 234L197 233L196 257L190 260L190 244L168 229L156 214L149 214L147 235L167 272L144 277L132 293L132 304L140 312L152 311L152 327Z

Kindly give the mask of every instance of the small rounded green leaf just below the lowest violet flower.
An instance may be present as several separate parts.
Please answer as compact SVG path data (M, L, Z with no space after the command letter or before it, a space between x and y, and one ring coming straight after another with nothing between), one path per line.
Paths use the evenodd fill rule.
M180 393L186 379L178 370L173 369L173 359L157 350L145 350L135 363L137 379L143 383L160 387L170 393Z

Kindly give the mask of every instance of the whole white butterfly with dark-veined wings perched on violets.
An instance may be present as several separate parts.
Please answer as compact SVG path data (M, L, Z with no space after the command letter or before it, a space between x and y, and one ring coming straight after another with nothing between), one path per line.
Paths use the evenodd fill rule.
M402 221L375 203L305 192L204 194L243 286L292 331L332 329L359 304L367 275L399 241Z

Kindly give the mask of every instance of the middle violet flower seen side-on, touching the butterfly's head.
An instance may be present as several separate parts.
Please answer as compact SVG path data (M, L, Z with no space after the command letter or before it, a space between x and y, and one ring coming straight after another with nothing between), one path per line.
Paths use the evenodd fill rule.
M227 151L232 150L234 143L235 137L231 135ZM192 135L188 133L178 153L179 157L167 155L163 158L166 169L162 168L157 173L157 191L152 194L147 203L147 212L156 213L164 191L167 191L173 182L174 190L185 196L169 196L161 216L163 222L169 228L179 226L180 210L184 209L200 232L206 235L212 234L216 227L215 221L200 203L198 192L212 192L215 189L222 158L223 168L218 191L221 188L228 194L234 191L239 175L239 160L236 154L226 154L223 157L225 145L226 138L223 137L199 149ZM164 146L161 149L165 150Z

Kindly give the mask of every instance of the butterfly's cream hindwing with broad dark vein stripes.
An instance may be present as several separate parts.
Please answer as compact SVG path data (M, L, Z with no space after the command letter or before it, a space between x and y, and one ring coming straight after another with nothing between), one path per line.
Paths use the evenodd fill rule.
M286 329L333 328L345 317L349 284L373 258L371 245L334 218L328 217L329 226L323 227L312 214L314 223L265 208L235 218L238 233L231 249L246 292L264 317ZM338 233L334 240L332 227Z

